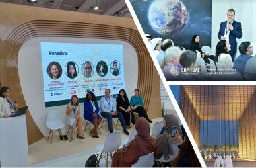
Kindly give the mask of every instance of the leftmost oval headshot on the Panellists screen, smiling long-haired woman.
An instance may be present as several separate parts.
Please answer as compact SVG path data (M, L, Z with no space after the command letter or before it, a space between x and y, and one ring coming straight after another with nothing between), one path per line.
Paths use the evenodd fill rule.
M58 62L50 62L47 66L47 73L51 79L59 79L62 74L61 65Z

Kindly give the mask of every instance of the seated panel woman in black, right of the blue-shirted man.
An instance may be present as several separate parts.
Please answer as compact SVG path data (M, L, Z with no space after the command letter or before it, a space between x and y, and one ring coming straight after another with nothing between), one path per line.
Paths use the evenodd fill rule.
M119 91L119 95L116 101L117 101L117 111L121 112L121 114L123 115L127 128L131 128L130 122L135 124L135 119L134 119L133 112L131 112L129 99L124 89L121 89Z

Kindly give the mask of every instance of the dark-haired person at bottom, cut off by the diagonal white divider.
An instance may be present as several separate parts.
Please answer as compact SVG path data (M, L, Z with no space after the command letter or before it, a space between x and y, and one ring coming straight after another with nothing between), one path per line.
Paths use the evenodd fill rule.
M179 134L176 134L175 138L177 138L177 140L181 142L181 136ZM172 163L174 167L201 167L201 164L197 159L197 155L195 155L193 146L187 136L185 136L184 142L178 147L178 156L174 159Z

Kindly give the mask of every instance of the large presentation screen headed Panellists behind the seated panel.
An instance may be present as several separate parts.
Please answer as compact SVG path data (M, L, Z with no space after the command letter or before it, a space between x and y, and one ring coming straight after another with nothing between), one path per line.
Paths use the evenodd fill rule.
M122 44L40 42L45 107L69 103L72 95L84 100L125 89Z

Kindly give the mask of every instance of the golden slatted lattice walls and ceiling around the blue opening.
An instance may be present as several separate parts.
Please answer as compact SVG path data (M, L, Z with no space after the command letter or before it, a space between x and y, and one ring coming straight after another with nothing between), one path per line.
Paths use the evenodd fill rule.
M256 87L255 86L183 86L179 105L181 112L200 146L200 134L214 138L216 122L210 130L200 132L200 121L238 122L238 137L224 136L224 142L238 138L238 161L256 160ZM229 126L223 131L229 134ZM232 130L234 131L234 130ZM231 135L231 134L230 134ZM205 135L204 135L205 136ZM234 136L234 134L232 134ZM232 151L225 146L224 151Z

